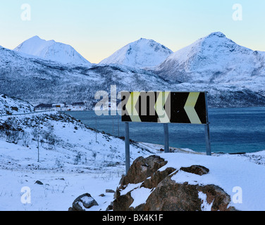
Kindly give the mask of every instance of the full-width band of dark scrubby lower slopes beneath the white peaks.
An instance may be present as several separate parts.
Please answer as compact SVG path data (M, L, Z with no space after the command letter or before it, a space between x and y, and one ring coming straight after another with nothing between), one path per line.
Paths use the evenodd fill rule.
M252 62L250 62L252 63ZM125 65L73 66L29 57L0 47L0 93L25 99L33 105L86 101L93 109L97 91L208 91L209 107L264 106L264 82L252 76L248 82L168 82L153 70ZM199 76L199 75L198 75Z

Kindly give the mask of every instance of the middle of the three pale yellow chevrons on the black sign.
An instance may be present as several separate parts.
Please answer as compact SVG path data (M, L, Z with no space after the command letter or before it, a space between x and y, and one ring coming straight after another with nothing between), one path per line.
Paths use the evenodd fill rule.
M161 122L164 124L171 122L170 119L168 118L168 115L166 114L166 110L164 109L164 105L166 104L166 99L168 98L169 94L170 92L160 92L159 96L156 99L156 104L154 105L154 109L156 110L156 113L159 116L157 122Z

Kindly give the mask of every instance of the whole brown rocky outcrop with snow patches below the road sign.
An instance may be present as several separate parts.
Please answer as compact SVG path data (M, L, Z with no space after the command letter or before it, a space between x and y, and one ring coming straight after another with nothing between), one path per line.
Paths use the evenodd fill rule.
M235 210L234 207L229 205L230 195L214 184L177 183L171 179L178 172L204 176L209 173L208 168L201 165L192 165L175 169L164 167L166 164L167 162L157 155L151 155L148 158L137 158L132 163L128 174L121 179L120 186L116 190L113 211ZM145 203L132 204L135 201L132 192L140 191L141 188L150 189Z

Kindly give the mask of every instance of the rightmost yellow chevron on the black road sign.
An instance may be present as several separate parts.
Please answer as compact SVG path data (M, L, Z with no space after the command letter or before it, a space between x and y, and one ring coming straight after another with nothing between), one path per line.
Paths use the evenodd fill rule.
M192 124L202 124L195 110L195 105L197 103L198 98L199 98L199 92L190 92L184 106L184 110L187 113L187 117L189 117L190 122Z

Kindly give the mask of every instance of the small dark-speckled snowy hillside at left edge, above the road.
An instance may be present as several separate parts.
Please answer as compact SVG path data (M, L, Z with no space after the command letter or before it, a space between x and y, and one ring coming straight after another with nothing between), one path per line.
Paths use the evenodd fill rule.
M14 115L32 112L34 112L34 107L30 103L18 98L11 98L4 94L0 94L0 115Z

